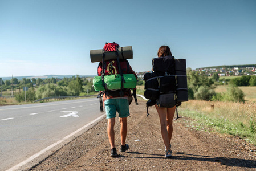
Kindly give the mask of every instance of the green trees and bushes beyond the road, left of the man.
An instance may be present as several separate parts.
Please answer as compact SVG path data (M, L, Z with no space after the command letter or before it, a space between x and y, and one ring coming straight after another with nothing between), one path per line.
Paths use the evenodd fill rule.
M80 78L78 75L63 79L22 78L22 80L18 80L13 78L2 82L2 91L7 91L7 89L15 90L15 99L19 102L25 101L23 87L29 87L28 91L26 91L27 101L34 101L44 97L83 96L96 93L92 87L92 78Z

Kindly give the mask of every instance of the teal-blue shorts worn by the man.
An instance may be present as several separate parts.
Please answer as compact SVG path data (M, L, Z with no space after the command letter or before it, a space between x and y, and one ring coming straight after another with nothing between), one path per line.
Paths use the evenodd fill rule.
M104 101L107 119L116 117L116 111L119 117L128 117L129 102L128 99L107 99Z

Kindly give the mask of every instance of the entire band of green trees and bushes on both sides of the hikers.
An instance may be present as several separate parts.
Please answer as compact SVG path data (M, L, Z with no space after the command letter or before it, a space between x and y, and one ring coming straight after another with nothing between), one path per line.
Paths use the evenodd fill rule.
M219 84L220 78L217 73L209 77L205 72L187 70L188 96L189 99L217 100L217 101L245 101L244 93L237 86L256 86L256 76L241 76L229 80L229 88L225 93L216 93L214 89ZM137 85L142 85L143 80L138 78ZM13 88L16 90L15 99L25 101L23 87L29 87L26 91L26 100L34 101L44 97L54 96L83 96L93 95L95 90L92 87L92 78L80 78L78 75L72 78L47 78L47 79L26 79L2 81L2 91ZM18 91L18 92L17 92Z

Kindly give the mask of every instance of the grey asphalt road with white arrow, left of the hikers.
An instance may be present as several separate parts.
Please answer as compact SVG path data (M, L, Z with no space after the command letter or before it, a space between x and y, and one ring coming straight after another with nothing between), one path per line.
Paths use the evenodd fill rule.
M19 164L102 115L95 97L0 107L0 170Z

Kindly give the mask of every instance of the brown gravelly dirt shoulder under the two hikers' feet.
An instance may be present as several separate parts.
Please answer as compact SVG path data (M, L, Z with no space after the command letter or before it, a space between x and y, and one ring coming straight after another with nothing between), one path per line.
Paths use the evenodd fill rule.
M134 101L128 117L126 143L120 153L120 124L116 119L115 138L119 157L110 157L107 120L64 145L29 170L256 170L256 147L238 137L197 130L190 119L173 123L172 158L164 158L164 141L155 107L146 118L145 101ZM178 113L182 116L182 113ZM174 116L176 117L176 115Z

